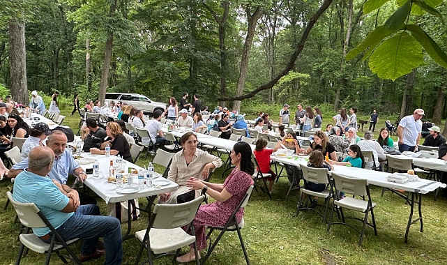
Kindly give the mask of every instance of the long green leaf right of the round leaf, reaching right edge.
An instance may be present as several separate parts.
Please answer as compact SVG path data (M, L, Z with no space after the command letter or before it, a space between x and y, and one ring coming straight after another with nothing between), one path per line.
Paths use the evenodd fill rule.
M421 27L417 25L407 25L407 29L411 32L411 36L418 40L418 43L424 47L425 52L437 62L440 66L447 68L447 54L441 50L436 42L428 36Z

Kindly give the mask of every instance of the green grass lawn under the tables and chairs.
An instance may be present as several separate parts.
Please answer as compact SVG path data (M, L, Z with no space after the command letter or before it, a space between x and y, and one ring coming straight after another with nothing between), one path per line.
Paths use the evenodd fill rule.
M64 125L77 132L79 116L70 116L70 109L63 110L68 114ZM379 129L381 126L377 126ZM377 128L376 131L378 132ZM138 165L146 165L149 159L139 159ZM158 172L161 168L156 167ZM211 181L222 183L222 169L217 169ZM6 191L11 183L0 182L0 242L4 252L0 255L0 264L15 264L19 243L16 241L20 228L14 223L15 212L10 206L3 211L6 202ZM362 246L358 246L359 235L349 227L333 226L327 233L327 226L312 211L301 211L298 218L296 203L298 192L292 193L288 201L285 194L289 188L287 178L273 186L273 199L263 193L253 192L249 206L245 209L245 228L243 238L248 249L251 264L446 264L447 256L447 200L439 196L434 202L434 194L423 195L424 232L418 225L410 229L409 243L404 243L405 228L409 216L409 206L403 199L391 192L381 197L381 188L371 186L372 199L377 203L374 214L377 222L378 236L374 236L368 227ZM106 214L106 206L97 198ZM145 199L140 199L140 206L146 206ZM361 216L357 213L347 215ZM146 215L132 222L132 232L146 228ZM361 227L360 222L356 227ZM127 224L122 225L127 229ZM79 245L74 246L79 250ZM139 241L130 239L123 244L123 264L134 264ZM203 254L202 254L203 255ZM29 252L22 259L22 264L43 264L44 255ZM103 264L104 258L86 264ZM62 264L53 255L51 264ZM170 258L156 260L156 264L172 264ZM228 232L220 241L207 264L245 264L236 232Z

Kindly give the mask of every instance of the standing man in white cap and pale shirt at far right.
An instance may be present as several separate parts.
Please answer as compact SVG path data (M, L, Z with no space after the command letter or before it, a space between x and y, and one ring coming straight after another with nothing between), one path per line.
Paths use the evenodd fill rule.
M423 109L415 109L413 115L404 116L397 126L399 151L416 151L421 140Z

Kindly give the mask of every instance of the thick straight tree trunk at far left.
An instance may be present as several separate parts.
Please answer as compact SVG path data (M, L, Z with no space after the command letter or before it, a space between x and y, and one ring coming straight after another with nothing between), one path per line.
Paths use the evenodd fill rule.
M11 19L9 22L10 91L12 98L24 105L29 104L26 84L25 22Z

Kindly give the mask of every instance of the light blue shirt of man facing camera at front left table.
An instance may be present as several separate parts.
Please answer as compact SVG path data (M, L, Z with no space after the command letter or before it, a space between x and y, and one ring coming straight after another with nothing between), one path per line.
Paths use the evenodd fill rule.
M61 184L66 184L68 179L68 174L73 174L75 169L77 169L79 166L79 163L75 161L73 156L71 155L70 151L66 149L62 156L59 158L54 158L53 162L53 168L51 169L50 173L48 173L48 176L50 176L50 179L54 179L55 181L58 181ZM27 169L28 168L28 158L25 158L24 160L20 161L19 163L13 165L13 169Z

